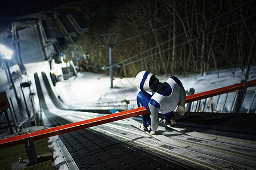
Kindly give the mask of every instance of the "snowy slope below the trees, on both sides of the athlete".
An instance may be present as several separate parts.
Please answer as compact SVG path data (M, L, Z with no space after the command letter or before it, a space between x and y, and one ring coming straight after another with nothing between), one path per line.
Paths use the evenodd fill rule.
M154 74L154 73L153 73ZM213 90L220 87L240 83L245 79L240 69L233 73L229 69L220 69L217 73L209 74L175 75L181 80L185 90L195 89L195 93ZM169 76L156 75L160 82L164 82ZM249 79L256 78L256 66L251 66ZM58 82L55 91L68 105L84 105L85 103L97 103L100 101L135 100L139 88L135 87L135 78L114 78L113 88L110 88L110 78L107 75L79 72L68 80Z

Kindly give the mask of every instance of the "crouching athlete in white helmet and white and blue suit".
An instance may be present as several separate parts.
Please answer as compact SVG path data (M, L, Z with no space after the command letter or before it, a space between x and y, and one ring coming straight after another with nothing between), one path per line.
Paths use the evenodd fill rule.
M135 81L141 89L137 96L138 107L145 107L150 112L142 114L142 128L150 131L151 135L158 129L159 117L164 117L165 124L176 123L172 112L177 104L179 104L177 108L179 114L181 116L185 114L186 94L183 84L176 76L171 76L166 82L161 83L150 71L141 71ZM152 95L146 91L151 91Z

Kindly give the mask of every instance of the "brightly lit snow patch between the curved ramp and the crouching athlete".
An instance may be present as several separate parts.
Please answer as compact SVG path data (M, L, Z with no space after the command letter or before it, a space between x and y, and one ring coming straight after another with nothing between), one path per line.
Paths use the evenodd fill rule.
M134 78L115 78L113 84L114 88L110 88L110 78L107 75L79 72L77 76L58 82L55 89L64 102L71 105L96 103L103 99L135 99L134 94L138 90L134 86Z

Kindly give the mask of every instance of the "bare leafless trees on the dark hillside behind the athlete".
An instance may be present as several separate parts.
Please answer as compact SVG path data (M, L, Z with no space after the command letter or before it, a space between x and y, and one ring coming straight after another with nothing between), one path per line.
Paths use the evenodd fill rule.
M255 3L141 0L123 1L108 10L94 4L90 31L77 45L89 53L94 71L109 63L109 49L102 46L106 42L100 35L119 33L113 48L115 75L135 76L141 70L203 75L214 69L218 76L221 67L233 72L239 67L247 79L256 58Z

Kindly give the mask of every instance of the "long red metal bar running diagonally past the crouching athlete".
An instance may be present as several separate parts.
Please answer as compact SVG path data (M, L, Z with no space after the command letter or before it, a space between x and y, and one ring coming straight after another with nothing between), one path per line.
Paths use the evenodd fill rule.
M245 83L238 83L232 86L217 88L216 90L201 92L200 94L190 95L190 96L187 96L186 103L191 103L192 101L206 99L208 97L217 96L217 95L225 94L225 93L236 91L236 90L242 90L244 86L245 86ZM252 86L256 86L256 80L249 81L248 87L252 87ZM109 114L102 117L92 118L85 121L75 122L68 125L57 126L55 128L35 131L33 133L22 134L16 137L1 139L0 148L18 145L20 143L23 143L23 139L29 138L29 137L32 137L33 140L39 140L43 138L52 137L54 135L69 133L71 131L81 130L85 128L90 128L92 126L97 126L97 125L106 124L106 123L117 121L117 120L122 120L124 118L139 116L141 114L146 114L146 113L148 113L147 109L144 107L141 107L141 108L131 109L129 111L123 111L123 112Z

